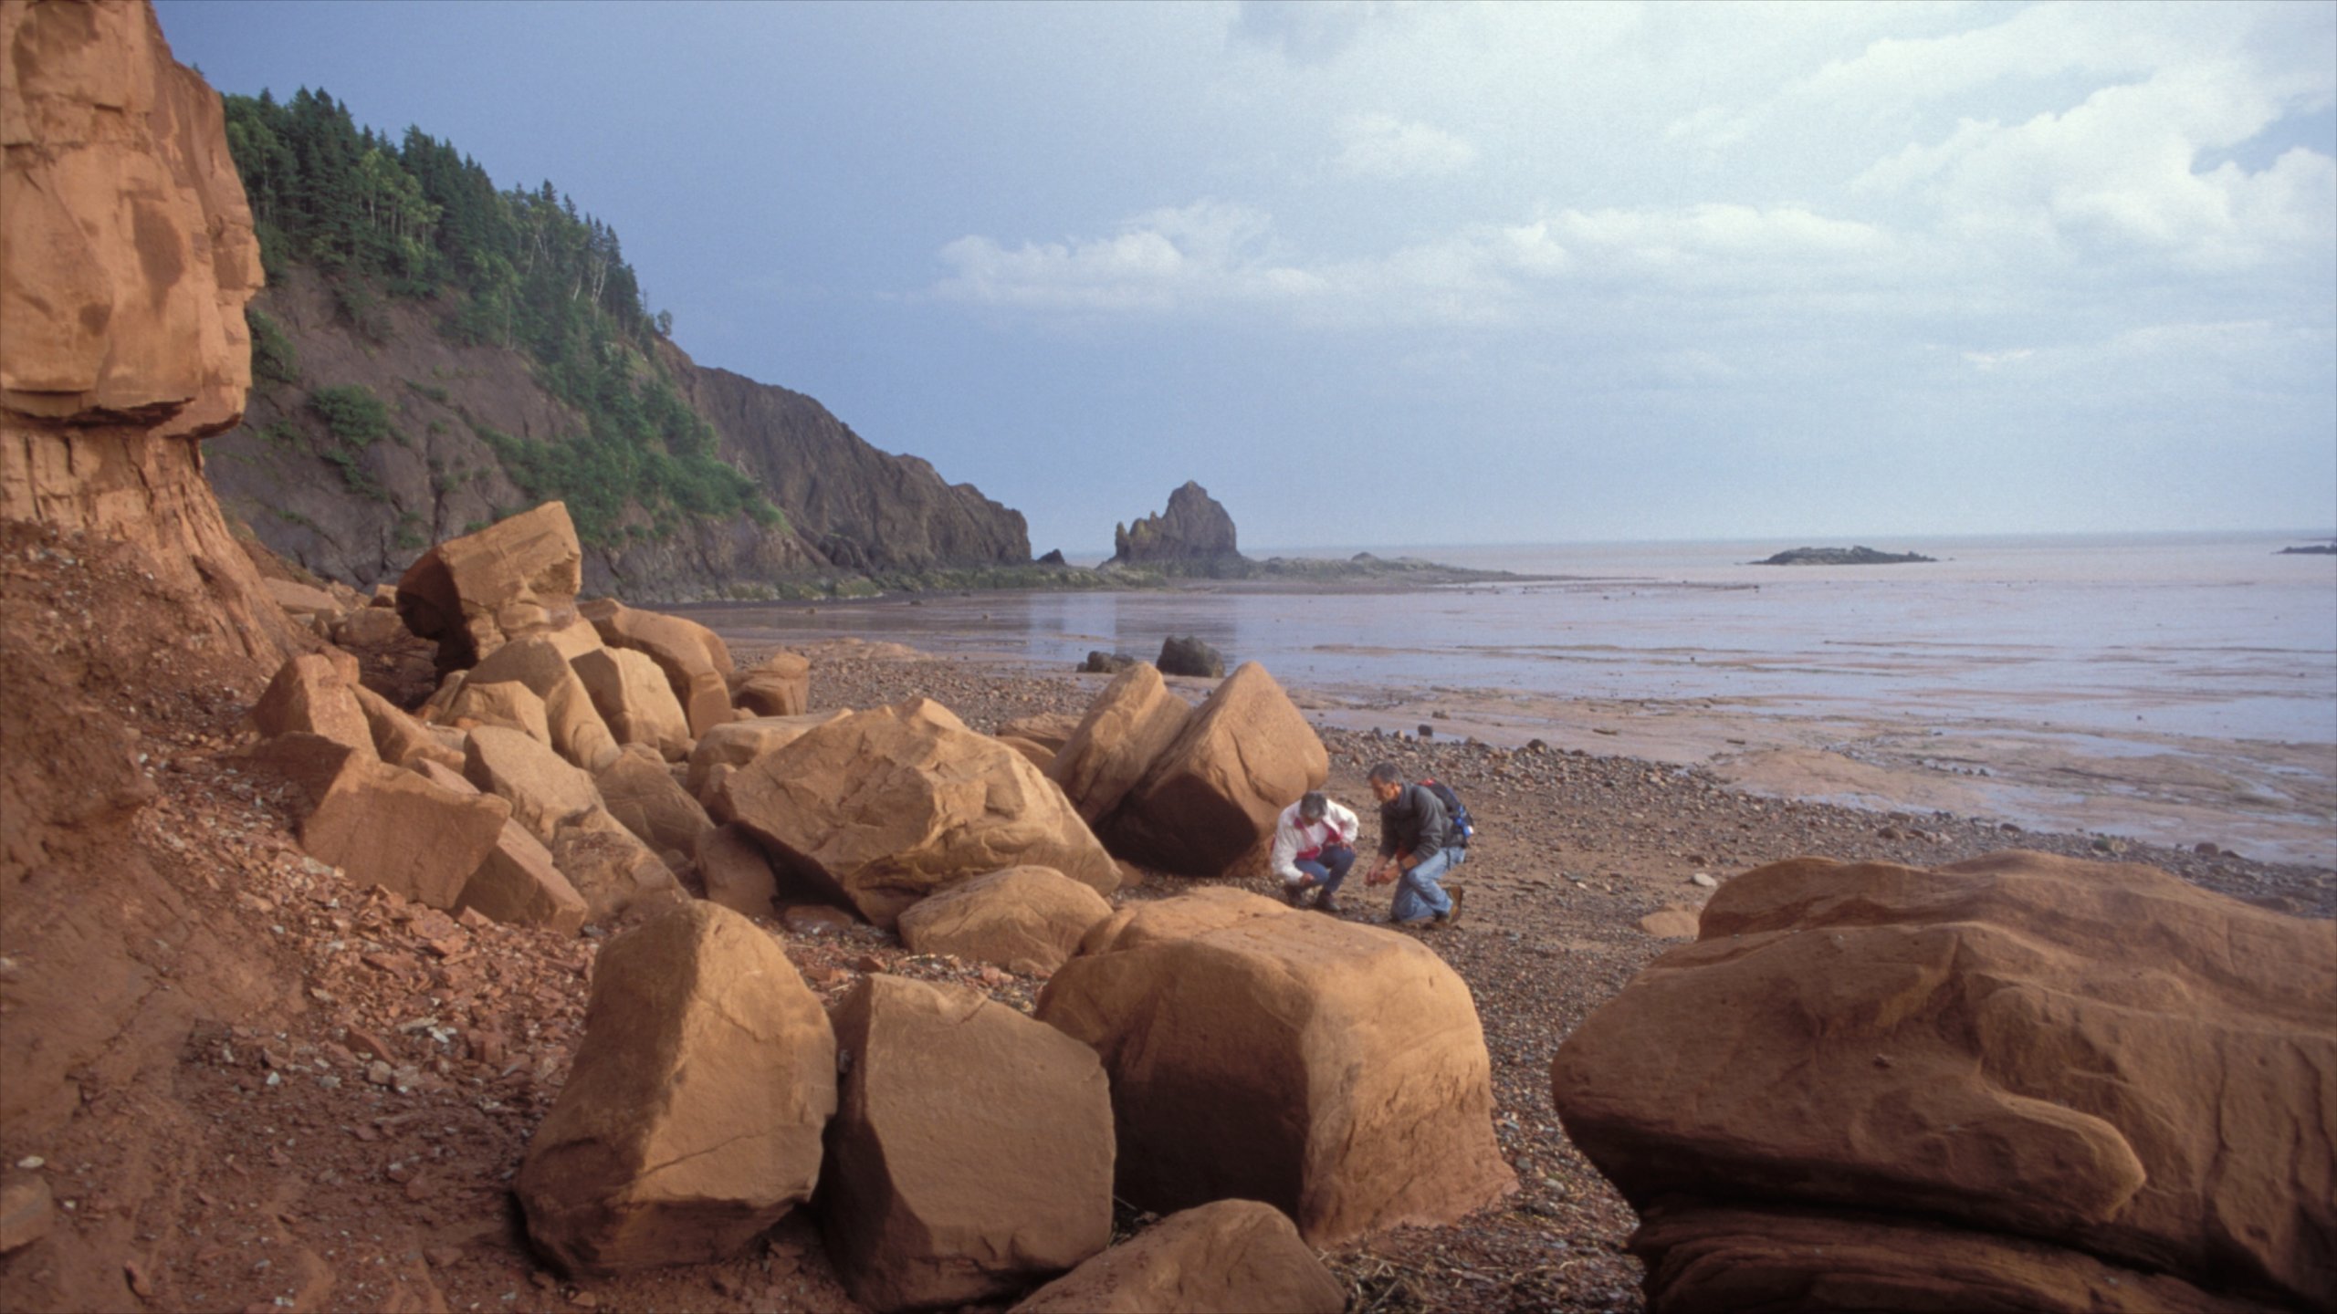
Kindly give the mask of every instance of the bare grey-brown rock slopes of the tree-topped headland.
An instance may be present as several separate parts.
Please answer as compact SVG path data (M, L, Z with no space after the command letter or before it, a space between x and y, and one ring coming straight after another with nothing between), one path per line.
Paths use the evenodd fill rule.
M535 381L523 353L449 341L430 302L381 306L367 339L325 281L294 267L255 309L283 330L299 379L255 390L248 423L213 442L210 479L262 542L318 575L395 580L428 542L530 505L486 433L554 440L587 428ZM1031 559L1021 512L946 484L925 461L876 451L816 400L699 367L675 348L664 365L715 426L722 458L753 475L788 524L734 517L589 545L587 592L696 601L750 596L785 575ZM351 383L388 407L388 440L334 444L311 395Z

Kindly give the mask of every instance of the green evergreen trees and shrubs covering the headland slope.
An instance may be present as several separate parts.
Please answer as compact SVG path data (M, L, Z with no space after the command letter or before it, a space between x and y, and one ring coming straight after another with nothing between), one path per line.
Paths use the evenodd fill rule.
M554 442L479 433L528 498L568 503L584 542L666 538L692 519L783 521L717 456L713 426L654 351L671 316L647 313L617 231L577 213L573 196L552 182L495 189L453 143L421 129L393 143L323 89L283 103L266 91L227 96L227 145L271 278L292 262L315 269L341 318L376 341L388 332L386 299L428 299L451 339L521 351L545 390L584 416L582 433ZM290 341L257 311L252 376L299 376ZM311 402L339 433L362 402L327 393ZM629 505L650 524L626 526Z

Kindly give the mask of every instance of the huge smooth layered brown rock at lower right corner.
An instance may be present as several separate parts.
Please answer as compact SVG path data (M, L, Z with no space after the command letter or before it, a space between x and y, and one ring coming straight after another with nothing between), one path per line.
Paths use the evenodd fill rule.
M2337 926L2040 853L1736 877L1552 1066L1573 1141L1662 1209L1634 1249L1664 1309L1872 1307L1818 1232L1942 1307L2022 1274L2061 1307L2092 1260L2323 1305L2330 1090Z

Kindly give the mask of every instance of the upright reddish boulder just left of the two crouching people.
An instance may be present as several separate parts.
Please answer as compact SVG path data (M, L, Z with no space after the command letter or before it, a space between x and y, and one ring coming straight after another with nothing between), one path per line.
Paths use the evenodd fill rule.
M1124 858L1213 877L1327 779L1330 753L1306 715L1264 666L1243 662L1152 760L1103 832Z

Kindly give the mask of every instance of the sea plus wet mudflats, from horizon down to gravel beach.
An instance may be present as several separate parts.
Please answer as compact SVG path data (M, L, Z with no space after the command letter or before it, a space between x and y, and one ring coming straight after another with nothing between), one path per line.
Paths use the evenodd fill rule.
M1089 650L1150 659L1164 636L1190 634L1351 706L1517 694L1692 708L1792 727L1804 746L1914 781L1905 797L1888 783L1785 786L1814 797L1900 807L1926 797L1926 772L1956 772L1986 779L1961 804L1975 811L2330 865L2337 556L2279 552L2302 542L2314 535L1872 540L1937 559L1893 566L1755 566L1797 547L1776 540L1325 547L1304 554L1517 578L689 610L748 645L853 636L1054 669ZM1753 739L1741 755L1760 753ZM1937 767L1942 751L1965 765Z

